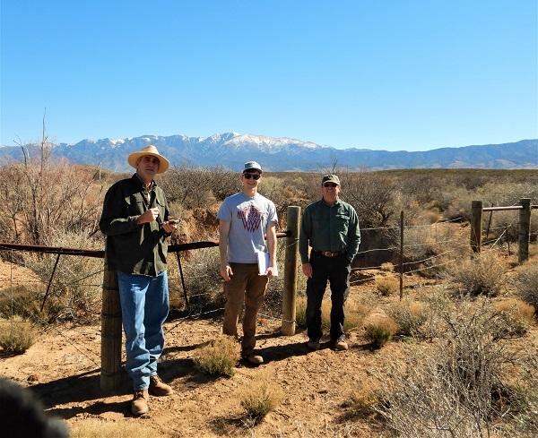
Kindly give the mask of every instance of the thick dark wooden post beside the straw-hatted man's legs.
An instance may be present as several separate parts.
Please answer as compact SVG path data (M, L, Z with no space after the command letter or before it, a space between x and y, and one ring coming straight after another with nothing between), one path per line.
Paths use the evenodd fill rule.
M101 374L100 388L113 391L121 382L121 305L117 273L108 269L105 254L101 307Z

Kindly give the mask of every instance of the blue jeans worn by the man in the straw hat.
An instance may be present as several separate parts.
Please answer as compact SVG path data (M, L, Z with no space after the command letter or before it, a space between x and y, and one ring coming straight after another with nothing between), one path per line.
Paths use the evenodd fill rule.
M157 277L117 272L121 319L126 332L126 369L134 391L150 386L164 348L162 324L169 312L168 275Z

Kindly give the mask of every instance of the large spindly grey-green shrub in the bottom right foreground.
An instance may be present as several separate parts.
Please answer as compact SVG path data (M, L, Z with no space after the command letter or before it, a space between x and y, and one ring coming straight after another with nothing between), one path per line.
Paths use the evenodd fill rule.
M445 314L449 331L438 348L407 358L404 373L400 364L385 373L378 410L402 436L491 436L510 412L494 398L514 361L499 340L498 315L485 299L458 309Z

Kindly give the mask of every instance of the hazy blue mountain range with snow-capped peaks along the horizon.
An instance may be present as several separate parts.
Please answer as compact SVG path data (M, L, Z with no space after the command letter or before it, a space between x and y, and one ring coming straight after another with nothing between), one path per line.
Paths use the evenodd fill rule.
M538 168L538 139L520 142L440 148L419 152L405 150L336 149L313 142L263 135L221 133L210 137L143 135L126 139L82 140L53 146L56 158L127 171L126 156L153 144L172 165L221 165L240 169L255 159L266 170L317 171L320 168ZM31 150L31 148L30 148ZM20 147L0 148L0 162L22 159Z

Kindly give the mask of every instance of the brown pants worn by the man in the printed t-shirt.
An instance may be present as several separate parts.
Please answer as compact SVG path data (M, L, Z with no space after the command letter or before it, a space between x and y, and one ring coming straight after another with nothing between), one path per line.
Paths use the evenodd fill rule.
M224 283L226 305L222 333L238 336L239 312L245 301L241 349L243 355L250 355L256 345L257 313L264 302L268 278L258 275L257 263L230 263L230 267L233 275L230 281Z

